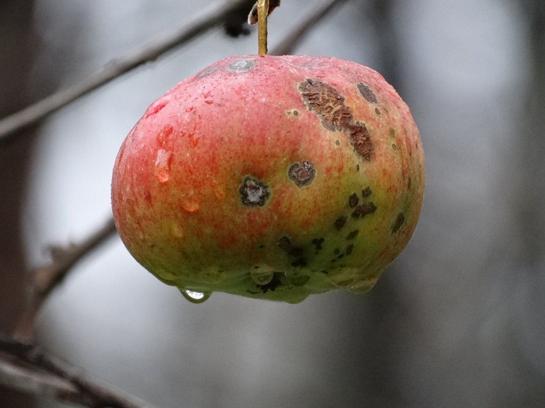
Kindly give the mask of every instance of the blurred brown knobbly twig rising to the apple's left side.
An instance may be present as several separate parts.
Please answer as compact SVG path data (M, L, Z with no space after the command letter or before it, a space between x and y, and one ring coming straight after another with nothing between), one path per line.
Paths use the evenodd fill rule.
M51 248L51 257L53 258L51 264L32 272L32 297L15 329L15 338L23 341L28 341L31 338L36 316L47 296L65 279L81 258L116 233L116 226L113 224L113 219L110 219L80 244Z

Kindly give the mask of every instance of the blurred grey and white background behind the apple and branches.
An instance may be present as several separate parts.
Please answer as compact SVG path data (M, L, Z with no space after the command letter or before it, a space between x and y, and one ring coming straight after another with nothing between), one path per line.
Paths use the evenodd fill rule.
M313 0L282 0L274 47ZM190 21L189 0L4 0L0 116ZM147 106L257 34L213 29L0 144L0 331L28 271L111 214L111 170ZM159 408L545 406L545 4L352 0L295 54L372 67L419 126L427 188L403 254L365 295L187 302L108 240L39 315L35 342ZM65 405L0 387L0 406Z

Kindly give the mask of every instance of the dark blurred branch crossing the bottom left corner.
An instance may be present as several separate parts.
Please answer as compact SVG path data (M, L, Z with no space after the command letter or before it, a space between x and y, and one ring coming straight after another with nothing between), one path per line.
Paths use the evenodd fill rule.
M84 379L32 344L0 336L0 384L91 408L151 408L134 397Z

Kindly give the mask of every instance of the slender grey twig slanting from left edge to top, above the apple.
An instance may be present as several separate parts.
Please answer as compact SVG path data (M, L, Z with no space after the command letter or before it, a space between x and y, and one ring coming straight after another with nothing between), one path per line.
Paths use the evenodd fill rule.
M196 36L217 26L225 21L225 15L236 10L247 0L232 0L205 10L201 15L183 27L168 33L154 42L151 42L136 50L117 58L105 65L98 72L84 79L80 83L60 90L53 95L38 101L25 109L0 120L0 141L8 138L9 135L44 119L46 116L56 112L77 98L87 95L89 92L100 86L122 76L124 73L136 67L153 61L174 47L179 47Z

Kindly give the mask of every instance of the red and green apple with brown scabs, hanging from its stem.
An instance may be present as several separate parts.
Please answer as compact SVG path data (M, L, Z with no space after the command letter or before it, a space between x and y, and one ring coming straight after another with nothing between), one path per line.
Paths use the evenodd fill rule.
M112 208L168 285L295 303L370 289L413 234L424 184L415 122L379 73L245 55L147 109L119 150Z

